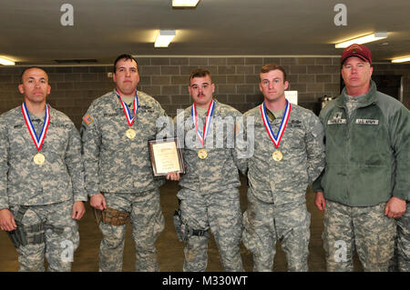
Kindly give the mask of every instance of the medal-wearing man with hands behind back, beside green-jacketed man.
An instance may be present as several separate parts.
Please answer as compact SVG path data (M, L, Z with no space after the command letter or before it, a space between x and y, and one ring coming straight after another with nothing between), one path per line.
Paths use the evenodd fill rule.
M254 271L272 271L277 241L289 271L308 271L305 194L323 170L323 126L311 111L285 99L289 83L282 66L264 65L260 78L264 102L244 114L245 122L254 119L254 154L248 159L242 242L253 254Z

